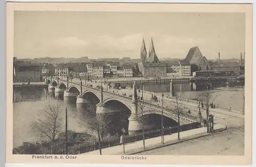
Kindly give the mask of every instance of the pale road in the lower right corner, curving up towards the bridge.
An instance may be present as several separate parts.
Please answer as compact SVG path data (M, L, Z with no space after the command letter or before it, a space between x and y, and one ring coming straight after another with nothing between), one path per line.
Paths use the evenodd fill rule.
M212 136L185 141L173 146L146 151L141 155L243 155L244 118L237 113L214 112L215 122L225 124L227 130ZM205 114L205 113L203 113ZM227 115L228 114L228 115Z

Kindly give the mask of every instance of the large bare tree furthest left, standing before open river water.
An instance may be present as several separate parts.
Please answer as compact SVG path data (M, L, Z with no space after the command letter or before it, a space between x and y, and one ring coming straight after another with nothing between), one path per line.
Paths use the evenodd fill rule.
M51 154L54 153L54 142L62 130L63 112L60 103L48 102L39 112L40 118L32 123L32 128L41 137L51 141Z

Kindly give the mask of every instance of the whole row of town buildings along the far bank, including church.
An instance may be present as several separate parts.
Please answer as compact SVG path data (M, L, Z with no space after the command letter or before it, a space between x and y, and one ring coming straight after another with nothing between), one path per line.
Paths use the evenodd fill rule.
M193 76L195 71L234 71L240 73L244 70L241 62L223 63L220 59L211 62L202 55L198 46L192 47L184 59L172 61L159 61L153 39L150 49L146 50L145 41L142 40L140 60L137 62L110 62L97 60L78 63L31 63L13 59L14 82L41 81L44 76L69 76L74 78L112 78L112 77L171 77Z

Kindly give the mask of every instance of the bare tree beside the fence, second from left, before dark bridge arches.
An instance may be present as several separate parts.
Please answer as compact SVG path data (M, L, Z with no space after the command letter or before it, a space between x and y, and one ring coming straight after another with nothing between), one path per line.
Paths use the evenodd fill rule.
M103 129L108 127L112 122L110 121L111 113L101 114L96 113L95 107L88 103L86 109L82 109L79 112L79 121L78 124L81 127L86 128L87 131L97 133L98 146L99 146L99 154L101 155L101 146L100 142L102 139Z

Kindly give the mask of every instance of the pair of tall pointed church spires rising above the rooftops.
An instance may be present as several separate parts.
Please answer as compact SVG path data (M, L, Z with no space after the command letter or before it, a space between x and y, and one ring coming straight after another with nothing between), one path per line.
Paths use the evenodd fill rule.
M145 46L145 41L144 38L142 39L142 44L140 48L140 58L143 62L154 62L154 63L159 63L159 59L157 57L156 51L155 51L155 46L153 43L153 39L151 38L151 43L150 43L150 50L148 50L148 57L147 57L147 52L146 52L146 46Z

